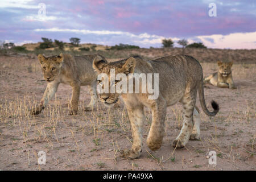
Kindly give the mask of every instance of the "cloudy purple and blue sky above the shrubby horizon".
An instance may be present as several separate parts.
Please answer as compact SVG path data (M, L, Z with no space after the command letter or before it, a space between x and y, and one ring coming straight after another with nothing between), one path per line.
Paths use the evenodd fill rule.
M46 16L39 3L46 5ZM217 16L209 16L209 3L216 4ZM255 49L255 5L254 0L1 0L0 40L77 37L81 43L160 47L171 38L209 48Z

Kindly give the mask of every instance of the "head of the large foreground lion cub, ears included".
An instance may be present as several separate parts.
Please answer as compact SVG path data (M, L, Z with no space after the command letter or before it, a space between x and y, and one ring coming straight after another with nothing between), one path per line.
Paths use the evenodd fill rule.
M119 93L110 93L110 86L112 84L117 85L119 80L113 80L110 81L110 69L115 70L115 76L118 73L124 73L127 76L128 79L128 74L134 72L135 68L135 63L136 60L133 57L130 57L127 59L124 63L108 63L104 58L101 56L97 56L93 60L93 68L94 70L100 74L100 73L105 73L108 75L108 81L109 81L109 93L98 93L98 97L100 98L101 102L103 102L106 106L113 106L117 101L119 97ZM102 89L104 89L104 77L102 77L101 81L97 81L97 86L100 85L102 86Z

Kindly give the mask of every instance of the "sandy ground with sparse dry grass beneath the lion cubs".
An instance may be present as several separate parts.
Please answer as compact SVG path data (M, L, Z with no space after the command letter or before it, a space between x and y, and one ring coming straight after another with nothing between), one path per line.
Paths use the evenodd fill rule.
M216 63L202 63L204 75L217 70ZM233 65L237 89L207 85L205 98L220 104L209 118L201 111L201 140L176 149L181 105L167 109L166 136L158 151L146 146L151 113L145 110L141 158L128 160L119 151L131 146L130 124L124 106L108 109L100 102L92 112L82 112L89 103L88 88L81 89L78 115L68 115L71 87L60 85L50 105L36 116L28 109L40 101L46 88L36 58L0 57L0 169L2 170L255 170L256 64ZM38 164L38 152L46 152L46 165ZM208 163L216 151L217 165Z

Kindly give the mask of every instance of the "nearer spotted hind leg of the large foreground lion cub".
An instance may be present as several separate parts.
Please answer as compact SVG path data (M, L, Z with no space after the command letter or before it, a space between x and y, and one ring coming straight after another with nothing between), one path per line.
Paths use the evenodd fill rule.
M196 103L196 92L191 92L191 89L187 88L180 102L183 105L183 125L180 134L172 144L177 148L184 147L185 144L188 143L189 137L192 133L192 114Z

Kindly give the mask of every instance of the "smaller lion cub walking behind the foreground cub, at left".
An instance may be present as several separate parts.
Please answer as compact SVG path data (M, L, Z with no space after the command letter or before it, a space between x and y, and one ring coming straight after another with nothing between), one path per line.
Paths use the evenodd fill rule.
M40 114L46 107L49 100L57 91L60 83L72 86L71 108L69 114L77 114L80 86L88 85L90 87L91 100L84 110L92 110L93 105L97 101L96 95L96 78L97 74L92 68L93 59L97 55L71 56L60 53L59 56L45 57L38 55L41 64L44 79L48 82L46 91L35 109L31 110L31 114Z

